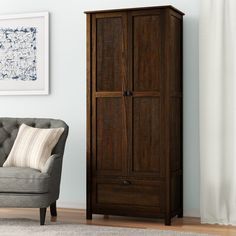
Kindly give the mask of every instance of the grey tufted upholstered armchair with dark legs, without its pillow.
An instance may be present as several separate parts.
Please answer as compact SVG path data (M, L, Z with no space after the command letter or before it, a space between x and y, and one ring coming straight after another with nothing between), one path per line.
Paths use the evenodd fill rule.
M42 171L28 167L2 167L22 123L36 128L64 128ZM59 198L62 158L68 129L62 120L0 118L0 207L40 208L41 225L45 222L48 206L51 215L57 215L56 200Z

